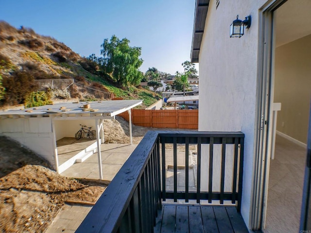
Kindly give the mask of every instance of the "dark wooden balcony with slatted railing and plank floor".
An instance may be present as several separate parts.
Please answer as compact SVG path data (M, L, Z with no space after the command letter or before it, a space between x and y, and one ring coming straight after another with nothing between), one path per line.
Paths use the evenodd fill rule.
M148 132L76 232L248 232L243 147L243 133Z

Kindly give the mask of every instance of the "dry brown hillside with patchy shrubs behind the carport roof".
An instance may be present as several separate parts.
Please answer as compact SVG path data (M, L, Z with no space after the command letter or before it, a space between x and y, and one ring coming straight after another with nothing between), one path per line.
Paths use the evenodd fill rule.
M5 88L0 107L44 105L53 100L143 99L143 107L159 99L154 92L130 86L117 88L109 74L51 36L16 29L0 21L0 76ZM53 81L52 81L53 80ZM0 80L1 82L1 80Z

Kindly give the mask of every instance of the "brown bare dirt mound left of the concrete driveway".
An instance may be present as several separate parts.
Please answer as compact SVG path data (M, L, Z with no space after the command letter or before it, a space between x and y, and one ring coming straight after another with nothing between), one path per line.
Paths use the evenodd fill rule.
M106 185L62 177L0 137L0 232L44 232L65 202L94 204Z

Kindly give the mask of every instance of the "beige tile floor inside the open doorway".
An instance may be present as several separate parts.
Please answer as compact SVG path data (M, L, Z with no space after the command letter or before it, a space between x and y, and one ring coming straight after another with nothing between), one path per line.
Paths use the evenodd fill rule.
M265 233L299 232L306 149L276 135L270 163Z

